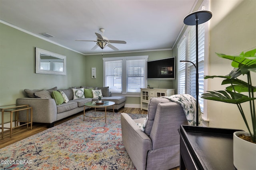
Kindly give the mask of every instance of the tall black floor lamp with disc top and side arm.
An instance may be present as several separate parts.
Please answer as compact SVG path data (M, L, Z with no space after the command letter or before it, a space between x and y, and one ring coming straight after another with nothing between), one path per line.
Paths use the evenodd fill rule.
M184 23L186 25L196 25L196 64L191 61L180 61L180 62L190 62L196 67L196 126L198 126L198 96L199 96L199 84L198 84L198 25L205 23L212 18L212 12L207 10L201 10L192 12L184 18Z

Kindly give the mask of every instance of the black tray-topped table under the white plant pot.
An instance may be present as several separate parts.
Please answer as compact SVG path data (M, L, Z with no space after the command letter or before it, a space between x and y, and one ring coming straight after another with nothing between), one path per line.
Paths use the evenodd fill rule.
M233 133L221 129L180 125L180 170L236 170Z

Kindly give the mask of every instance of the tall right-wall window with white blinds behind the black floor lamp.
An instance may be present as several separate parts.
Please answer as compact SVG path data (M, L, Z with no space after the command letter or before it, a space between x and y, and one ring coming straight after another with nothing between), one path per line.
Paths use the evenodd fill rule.
M199 82L199 103L201 111L204 111L204 100L201 95L204 93L204 23L198 25L198 82ZM183 39L178 46L178 58L188 60L196 64L196 26L192 26L187 34L188 39ZM186 41L188 47L186 47ZM186 56L186 51L188 55ZM196 68L191 63L178 63L178 93L190 94L196 98ZM187 76L186 76L187 75ZM187 77L187 78L186 78Z

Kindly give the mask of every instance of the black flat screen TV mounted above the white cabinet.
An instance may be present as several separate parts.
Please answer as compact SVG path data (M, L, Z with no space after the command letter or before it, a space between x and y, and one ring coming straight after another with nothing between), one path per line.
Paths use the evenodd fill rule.
M175 57L148 61L148 79L175 79Z

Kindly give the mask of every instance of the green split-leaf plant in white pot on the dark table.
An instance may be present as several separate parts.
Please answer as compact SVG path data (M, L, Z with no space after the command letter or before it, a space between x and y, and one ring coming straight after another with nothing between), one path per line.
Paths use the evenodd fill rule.
M256 107L254 92L256 87L252 85L251 72L256 72L256 49L242 52L239 56L230 56L219 54L218 57L232 60L234 69L227 76L205 76L204 78L224 78L222 85L229 85L226 90L208 92L202 94L202 98L207 100L215 100L236 104L238 107L248 132L235 132L233 135L233 154L234 166L239 169L255 170L256 169ZM238 76L246 75L247 82L238 79ZM243 94L242 94L243 93ZM244 95L248 94L248 96ZM242 108L242 103L249 102L250 104L250 118L245 116ZM249 124L252 123L252 124ZM250 126L252 125L252 129ZM246 141L246 139L248 141ZM240 146L236 146L240 144ZM248 157L246 157L248 156Z

